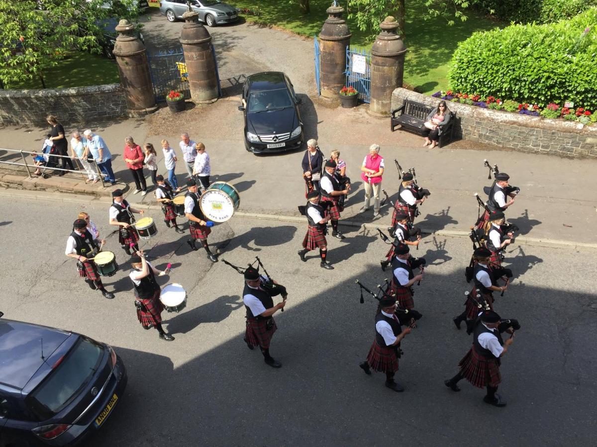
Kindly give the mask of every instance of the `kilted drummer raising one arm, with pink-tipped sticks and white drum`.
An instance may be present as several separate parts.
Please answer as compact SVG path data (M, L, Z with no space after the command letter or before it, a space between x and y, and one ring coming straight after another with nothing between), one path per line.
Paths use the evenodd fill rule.
M128 275L135 287L135 306L137 318L143 329L155 327L159 332L159 338L171 342L174 337L167 334L162 328L162 311L164 305L159 300L160 288L155 277L163 277L165 271L156 269L145 259L143 252L137 252L131 257L131 273Z

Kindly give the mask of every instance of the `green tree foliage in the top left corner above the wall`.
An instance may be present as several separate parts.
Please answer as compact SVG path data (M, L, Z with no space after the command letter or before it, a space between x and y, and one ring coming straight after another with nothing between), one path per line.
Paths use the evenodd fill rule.
M39 77L43 85L44 70L69 52L101 51L103 21L137 14L136 0L0 0L0 83Z

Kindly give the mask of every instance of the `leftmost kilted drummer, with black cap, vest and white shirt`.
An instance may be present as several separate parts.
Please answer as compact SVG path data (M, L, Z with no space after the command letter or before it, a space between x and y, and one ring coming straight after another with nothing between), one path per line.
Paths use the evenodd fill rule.
M66 240L64 254L77 260L79 276L85 278L85 282L92 290L100 290L104 297L112 299L114 295L104 288L96 263L93 262L94 254L99 252L97 241L85 227L87 222L84 219L76 219L73 223L73 232ZM104 243L106 241L102 239L101 244Z

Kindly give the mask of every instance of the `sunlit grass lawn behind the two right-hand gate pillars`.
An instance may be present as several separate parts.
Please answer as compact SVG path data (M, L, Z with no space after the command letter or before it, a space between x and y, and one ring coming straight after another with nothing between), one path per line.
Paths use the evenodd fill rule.
M228 0L237 8L253 9L259 6L261 15L244 15L247 21L274 24L294 33L306 36L319 34L330 7L330 0L310 0L311 13L301 14L297 6L281 0ZM346 8L346 1L340 4ZM425 7L422 1L407 1L407 20L405 45L408 48L404 65L404 82L421 93L435 93L448 87L448 64L458 42L466 40L475 31L484 31L498 26L472 10L466 11L468 20L457 21L448 26L444 18L423 20ZM388 13L390 15L390 11ZM346 18L347 13L344 13ZM368 41L365 33L348 21L352 32L351 46L371 48L373 40Z

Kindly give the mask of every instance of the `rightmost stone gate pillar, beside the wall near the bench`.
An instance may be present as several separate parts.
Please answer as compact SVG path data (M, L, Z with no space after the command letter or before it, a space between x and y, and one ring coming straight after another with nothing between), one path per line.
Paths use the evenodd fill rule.
M390 113L392 92L402 87L404 42L398 35L398 22L391 15L380 24L381 33L371 48L371 104L374 114Z

